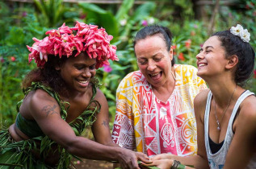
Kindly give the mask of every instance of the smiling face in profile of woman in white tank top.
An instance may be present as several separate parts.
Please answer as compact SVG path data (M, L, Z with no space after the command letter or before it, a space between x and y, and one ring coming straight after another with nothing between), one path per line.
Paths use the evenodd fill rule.
M196 56L198 72L202 78L211 77L225 71L229 60L225 58L225 49L221 47L217 36L210 37L205 41L199 54Z

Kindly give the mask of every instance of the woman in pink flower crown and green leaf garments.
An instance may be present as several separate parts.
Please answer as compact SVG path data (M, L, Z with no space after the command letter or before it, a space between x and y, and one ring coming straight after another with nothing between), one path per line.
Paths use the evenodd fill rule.
M79 22L46 35L27 46L38 68L23 80L15 124L0 131L0 168L69 168L72 157L118 161L124 168L139 168L137 159L148 163L146 155L111 140L107 100L94 76L109 59L118 60L112 36ZM89 126L95 142L81 137Z

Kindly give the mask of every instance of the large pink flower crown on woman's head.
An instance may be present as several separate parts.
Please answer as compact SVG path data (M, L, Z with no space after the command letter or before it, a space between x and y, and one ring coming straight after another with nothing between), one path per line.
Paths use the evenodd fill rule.
M35 60L39 68L44 68L49 55L69 57L74 50L77 50L75 56L86 52L91 59L96 59L96 68L109 64L109 59L119 60L115 45L110 44L113 36L107 35L105 29L96 25L77 22L75 27L68 27L63 23L57 30L47 31L45 35L48 36L41 40L33 38L35 43L32 47L27 46L31 52L28 55L29 63Z

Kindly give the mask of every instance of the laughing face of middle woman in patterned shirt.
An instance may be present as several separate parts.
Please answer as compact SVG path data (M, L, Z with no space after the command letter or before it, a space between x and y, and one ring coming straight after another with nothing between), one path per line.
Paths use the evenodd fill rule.
M171 76L173 51L167 51L162 35L157 34L140 39L134 47L138 67L153 87L162 86Z

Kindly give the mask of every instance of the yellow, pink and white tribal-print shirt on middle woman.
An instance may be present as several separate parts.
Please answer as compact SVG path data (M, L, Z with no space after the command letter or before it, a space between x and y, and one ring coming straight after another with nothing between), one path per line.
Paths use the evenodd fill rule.
M116 95L115 143L149 156L196 154L193 101L207 86L196 68L175 64L174 69L175 87L166 102L157 99L140 71L124 77Z

